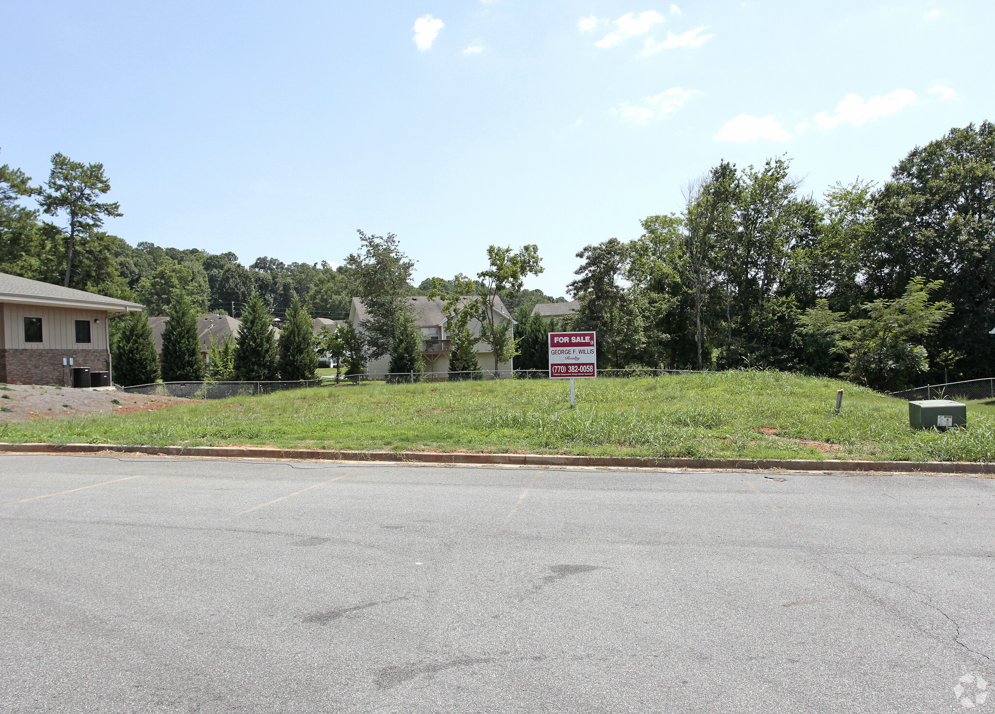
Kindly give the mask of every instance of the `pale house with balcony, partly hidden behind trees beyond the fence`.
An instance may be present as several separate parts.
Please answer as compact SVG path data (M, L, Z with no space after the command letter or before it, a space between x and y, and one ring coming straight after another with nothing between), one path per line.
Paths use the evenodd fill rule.
M430 300L427 297L416 296L406 297L411 301L411 306L415 312L415 326L422 333L422 357L425 359L425 372L429 375L445 376L449 373L449 356L452 347L446 315L442 311L443 301L440 299ZM467 298L471 299L471 298ZM495 312L498 322L514 323L511 316L504 309L504 303L500 297L495 302ZM349 307L349 322L357 329L362 330L360 322L367 319L366 308L358 297L352 298ZM470 321L470 331L475 337L480 337L481 323L479 320ZM478 342L476 346L477 359L481 367L485 370L493 371L495 368L494 351L491 346L484 342ZM386 374L390 365L390 357L384 356L377 360L370 360L366 365L368 374ZM513 369L512 361L501 362L497 365L499 371L509 371Z

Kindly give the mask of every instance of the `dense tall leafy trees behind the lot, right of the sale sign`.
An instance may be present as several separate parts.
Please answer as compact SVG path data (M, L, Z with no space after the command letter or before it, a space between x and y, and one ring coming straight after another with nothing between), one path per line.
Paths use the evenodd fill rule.
M991 376L992 123L915 147L881 186L817 198L775 157L721 161L684 196L639 238L577 253L570 324L598 331L600 368L771 368L888 390ZM539 330L520 332L524 357Z

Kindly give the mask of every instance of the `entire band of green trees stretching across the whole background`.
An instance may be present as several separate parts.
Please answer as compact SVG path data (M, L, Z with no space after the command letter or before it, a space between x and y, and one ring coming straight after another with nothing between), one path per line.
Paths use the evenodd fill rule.
M365 334L350 337L347 348L342 336L325 334L318 346L348 355L342 363L353 372L384 355L391 372L423 369L403 299L423 294L446 305L454 371L480 366L470 348L478 339L492 346L496 363L516 355L516 367L544 369L548 331L593 329L603 369L769 368L881 389L991 376L995 126L988 121L913 148L880 186L858 178L821 197L802 191L787 157L759 167L721 161L688 184L679 211L644 219L638 238L578 252L567 291L579 310L552 323L531 309L554 298L523 289L522 279L541 270L528 252L534 247L492 246L489 268L476 278L417 286L394 236L360 232L360 250L339 267L264 257L246 268L232 253L131 248L103 231L103 219L120 208L100 200L109 190L102 166L61 154L52 161L44 186L0 167L0 271L134 299L149 314L166 313L182 293L192 312L243 320L257 299L287 319L292 309L344 317L351 297L361 297ZM26 205L32 200L37 207ZM513 330L488 311L496 296L513 311ZM480 336L467 328L474 318Z

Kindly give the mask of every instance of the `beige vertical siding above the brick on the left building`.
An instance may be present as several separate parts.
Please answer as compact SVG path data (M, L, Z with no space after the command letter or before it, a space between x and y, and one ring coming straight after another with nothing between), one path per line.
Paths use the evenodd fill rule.
M24 341L24 318L42 318L43 342ZM100 322L95 323L94 320ZM105 350L107 313L72 307L3 304L3 346L7 349ZM90 321L91 342L76 341L76 320Z

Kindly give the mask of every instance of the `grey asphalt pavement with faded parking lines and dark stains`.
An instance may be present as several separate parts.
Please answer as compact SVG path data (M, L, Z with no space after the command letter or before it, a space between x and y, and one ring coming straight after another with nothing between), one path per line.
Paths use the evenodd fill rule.
M778 479L0 455L0 711L995 712L995 480Z

